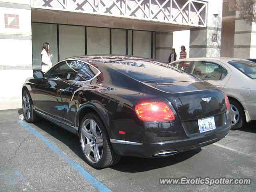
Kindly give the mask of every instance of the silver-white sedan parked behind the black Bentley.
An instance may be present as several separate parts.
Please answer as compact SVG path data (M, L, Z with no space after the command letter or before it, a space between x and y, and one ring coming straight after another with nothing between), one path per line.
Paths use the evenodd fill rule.
M256 63L240 58L186 58L170 63L222 89L229 98L232 130L256 120Z

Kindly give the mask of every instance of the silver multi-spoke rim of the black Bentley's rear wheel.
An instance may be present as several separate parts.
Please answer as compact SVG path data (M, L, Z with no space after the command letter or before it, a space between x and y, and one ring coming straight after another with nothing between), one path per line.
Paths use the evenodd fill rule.
M83 122L80 140L86 158L92 163L99 162L103 154L103 139L99 126L94 120L86 119Z

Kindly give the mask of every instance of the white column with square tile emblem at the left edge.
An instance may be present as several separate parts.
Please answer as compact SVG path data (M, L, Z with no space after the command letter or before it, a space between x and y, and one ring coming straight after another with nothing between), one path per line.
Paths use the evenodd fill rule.
M0 2L0 110L22 107L22 84L32 76L30 0Z

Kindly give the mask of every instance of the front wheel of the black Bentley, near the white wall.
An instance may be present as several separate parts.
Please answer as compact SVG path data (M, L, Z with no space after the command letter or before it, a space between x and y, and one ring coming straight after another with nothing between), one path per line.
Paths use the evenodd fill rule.
M28 90L24 90L22 93L22 109L23 109L23 116L26 122L34 123L37 122L40 118L36 115L33 110L33 102Z

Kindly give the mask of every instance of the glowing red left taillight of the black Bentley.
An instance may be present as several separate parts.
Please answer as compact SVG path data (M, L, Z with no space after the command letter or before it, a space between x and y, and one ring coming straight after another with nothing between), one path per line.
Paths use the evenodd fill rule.
M169 121L175 118L170 107L162 102L138 104L135 110L138 118L144 121Z

